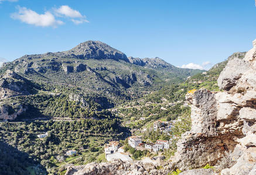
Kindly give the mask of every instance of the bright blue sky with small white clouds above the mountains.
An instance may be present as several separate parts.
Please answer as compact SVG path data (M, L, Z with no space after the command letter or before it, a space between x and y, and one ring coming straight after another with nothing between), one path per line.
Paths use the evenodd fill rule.
M132 57L209 68L256 38L254 0L0 0L0 57L100 40Z

